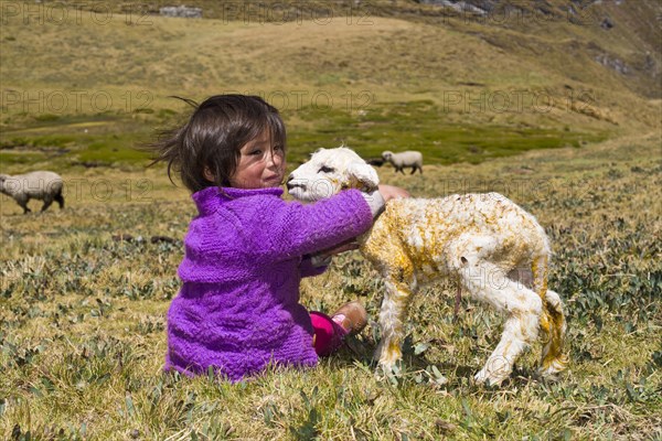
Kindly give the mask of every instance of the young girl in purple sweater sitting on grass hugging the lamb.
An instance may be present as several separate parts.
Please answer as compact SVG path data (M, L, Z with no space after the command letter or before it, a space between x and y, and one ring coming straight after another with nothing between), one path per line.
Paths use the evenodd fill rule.
M299 304L302 277L352 249L391 197L383 185L302 205L281 200L286 131L261 98L220 95L153 147L193 193L199 215L184 239L183 282L168 311L166 370L241 380L269 364L313 366L366 323L352 302L332 318ZM340 245L339 245L340 244Z

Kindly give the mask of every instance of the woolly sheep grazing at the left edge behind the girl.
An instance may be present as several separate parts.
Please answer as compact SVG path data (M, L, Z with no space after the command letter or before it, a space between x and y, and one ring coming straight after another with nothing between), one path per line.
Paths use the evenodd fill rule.
M13 197L23 207L23 214L31 211L28 208L28 202L31 198L44 202L42 212L51 206L53 201L57 201L60 208L63 208L62 187L62 178L53 172L31 172L13 176L0 174L0 193Z

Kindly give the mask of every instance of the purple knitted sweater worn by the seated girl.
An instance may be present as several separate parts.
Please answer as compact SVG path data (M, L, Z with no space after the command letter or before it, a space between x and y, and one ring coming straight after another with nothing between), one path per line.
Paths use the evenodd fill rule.
M209 367L231 380L269 363L313 366L312 326L299 304L310 258L365 233L372 213L356 190L310 205L281 189L207 187L193 194L199 216L184 239L182 288L168 311L166 370Z

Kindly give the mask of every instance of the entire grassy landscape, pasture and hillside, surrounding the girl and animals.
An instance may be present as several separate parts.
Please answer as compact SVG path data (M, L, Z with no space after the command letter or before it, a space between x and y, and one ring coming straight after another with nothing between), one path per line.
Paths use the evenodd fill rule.
M66 200L23 215L0 195L0 439L661 440L662 92L659 53L640 57L659 41L655 3L595 6L610 31L410 0L269 24L226 20L225 3L191 1L210 13L189 21L0 0L0 173L56 171ZM68 21L39 15L50 4ZM627 76L595 62L607 50ZM341 142L366 158L416 149L425 174L385 165L382 182L420 197L496 191L533 213L553 243L568 372L538 378L538 344L502 387L474 385L502 318L463 298L455 319L440 281L410 306L399 373L377 377L383 284L351 251L301 286L311 310L366 305L340 353L236 385L164 375L195 207L136 147L185 117L169 96L231 90L282 110L290 170Z

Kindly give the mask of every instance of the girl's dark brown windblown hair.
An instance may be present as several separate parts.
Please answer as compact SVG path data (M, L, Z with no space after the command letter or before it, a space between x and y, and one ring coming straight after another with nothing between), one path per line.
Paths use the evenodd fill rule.
M271 146L286 147L285 125L278 110L258 96L216 95L200 105L174 98L195 110L183 127L161 132L159 140L147 147L154 153L149 165L168 162L170 181L174 170L193 193L207 186L229 186L242 147L265 130L269 131ZM215 182L204 178L205 168Z

